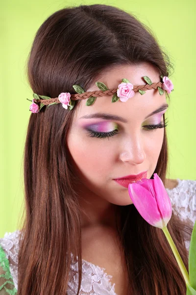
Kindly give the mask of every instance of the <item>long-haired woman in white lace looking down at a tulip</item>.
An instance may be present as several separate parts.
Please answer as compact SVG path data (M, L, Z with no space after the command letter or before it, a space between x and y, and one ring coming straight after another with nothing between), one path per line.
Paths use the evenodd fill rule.
M6 254L1 251L1 273L2 261L9 258L15 289L11 283L5 287L13 294L186 293L163 232L140 216L125 182L115 180L157 173L168 183L168 92L129 89L132 96L126 101L111 103L112 96L102 95L91 105L87 99L72 105L65 94L77 93L73 85L97 91L97 82L117 89L122 79L145 86L145 76L159 83L162 75L170 77L171 68L152 32L113 6L65 8L39 28L28 59L29 84L38 95L67 96L49 107L39 102L38 110L30 108L25 220L21 231L0 239ZM180 208L179 193L187 184L192 190L185 192L186 206ZM179 209L168 230L187 268L185 241L190 240L196 211L192 209L192 219L182 220L180 210L188 210L195 191L193 180L177 179L177 186L168 188ZM0 295L7 294L5 287Z

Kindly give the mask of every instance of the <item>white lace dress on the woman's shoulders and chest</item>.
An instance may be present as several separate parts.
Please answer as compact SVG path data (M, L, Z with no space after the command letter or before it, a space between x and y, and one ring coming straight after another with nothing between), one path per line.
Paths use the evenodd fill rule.
M196 221L196 180L181 180L177 178L178 184L173 189L167 189L171 199L172 209L184 221L189 220L194 225ZM18 241L19 231L5 233L0 238L0 245L4 250L5 256L9 261L10 272L14 286L18 289ZM186 248L189 249L190 241L186 240ZM115 284L111 284L111 275L108 275L105 268L82 260L82 282L80 295L117 295ZM69 282L68 295L75 295L75 288L78 285L78 264L73 260L72 271L74 272L73 281ZM15 293L13 293L15 294Z

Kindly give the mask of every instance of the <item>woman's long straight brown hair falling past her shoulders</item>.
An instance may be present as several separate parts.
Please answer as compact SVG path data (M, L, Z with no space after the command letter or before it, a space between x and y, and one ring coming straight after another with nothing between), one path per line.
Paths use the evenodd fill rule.
M74 84L88 89L99 74L113 66L140 62L148 62L160 75L170 76L172 63L168 55L136 16L114 6L80 5L56 11L44 21L32 44L27 75L34 93L57 97L63 91L75 93ZM80 102L75 102L72 111L61 104L44 106L29 118L19 295L67 294L71 252L78 256L79 294L79 196L73 188L75 178L66 138ZM154 171L164 183L167 163L165 130ZM163 231L149 225L133 205L121 206L120 213L119 236L129 279L127 294L184 295L186 284ZM188 269L184 233L190 234L191 229L173 212L168 230Z

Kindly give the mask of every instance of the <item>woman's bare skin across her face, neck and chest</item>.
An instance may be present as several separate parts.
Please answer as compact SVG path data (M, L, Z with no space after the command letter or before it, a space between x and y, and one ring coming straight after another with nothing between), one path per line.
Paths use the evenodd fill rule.
M145 85L143 76L148 76L152 82L160 81L154 67L142 63L110 69L98 77L96 82L114 89L123 78L133 85ZM86 89L93 90L98 90L96 84ZM126 295L127 274L118 242L115 211L119 206L132 204L132 201L128 189L113 179L144 171L147 171L148 179L153 175L163 143L164 128L149 131L144 126L163 121L163 113L167 108L164 112L145 117L167 103L166 95L160 95L157 89L150 89L144 95L136 92L126 102L111 103L110 97L102 96L89 107L85 103L86 100L83 100L75 113L67 140L74 173L81 180L74 185L84 212L81 214L82 259L104 267L105 272L112 275L111 283L115 283L115 292ZM97 112L121 116L127 123L111 119L81 118ZM109 130L104 132L118 128L119 134L104 139L87 136L87 125L91 129L102 122L105 125L109 123ZM171 183L167 182L167 185Z

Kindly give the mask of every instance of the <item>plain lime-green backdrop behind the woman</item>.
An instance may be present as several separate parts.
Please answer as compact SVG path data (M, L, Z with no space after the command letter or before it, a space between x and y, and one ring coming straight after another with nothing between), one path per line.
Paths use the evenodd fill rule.
M24 206L23 152L32 90L26 60L37 29L56 10L80 4L114 5L153 30L174 63L166 113L170 166L167 178L196 179L196 1L9 0L0 7L0 237L19 228Z

